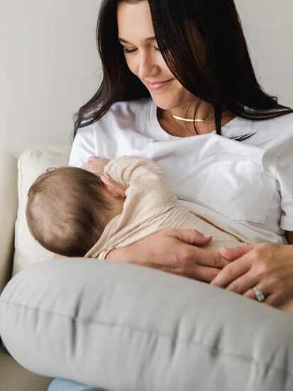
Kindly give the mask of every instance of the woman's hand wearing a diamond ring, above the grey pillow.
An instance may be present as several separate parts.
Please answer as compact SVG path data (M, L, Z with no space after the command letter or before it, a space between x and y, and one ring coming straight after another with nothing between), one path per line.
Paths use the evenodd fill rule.
M293 246L260 243L220 253L233 261L211 282L214 286L256 299L253 286L265 295L266 304L280 306L293 297Z

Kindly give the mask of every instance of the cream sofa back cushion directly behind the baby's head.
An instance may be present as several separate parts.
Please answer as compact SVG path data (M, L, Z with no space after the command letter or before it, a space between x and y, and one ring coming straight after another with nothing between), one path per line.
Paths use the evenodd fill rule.
M34 240L26 223L28 190L35 178L48 167L67 166L69 146L54 146L48 149L26 151L18 159L18 213L15 228L15 254L13 274L35 262L53 257Z

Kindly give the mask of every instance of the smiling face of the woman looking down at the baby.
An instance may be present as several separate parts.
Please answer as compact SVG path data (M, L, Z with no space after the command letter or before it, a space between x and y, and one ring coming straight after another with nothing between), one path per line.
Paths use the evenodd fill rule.
M117 22L128 68L148 88L155 104L174 109L194 102L194 95L175 79L157 48L148 1L118 2Z

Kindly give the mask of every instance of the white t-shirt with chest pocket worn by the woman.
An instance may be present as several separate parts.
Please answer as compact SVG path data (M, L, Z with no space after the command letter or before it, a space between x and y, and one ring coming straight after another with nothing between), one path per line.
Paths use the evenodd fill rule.
M150 98L117 102L79 129L70 166L82 166L89 156L153 159L187 209L250 242L287 243L284 230L293 231L293 114L267 121L236 117L222 134L171 136ZM228 138L245 134L253 135Z

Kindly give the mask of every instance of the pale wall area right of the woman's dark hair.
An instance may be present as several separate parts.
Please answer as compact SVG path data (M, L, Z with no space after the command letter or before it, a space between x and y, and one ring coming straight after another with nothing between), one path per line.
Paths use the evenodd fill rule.
M260 85L293 108L293 1L235 2Z

